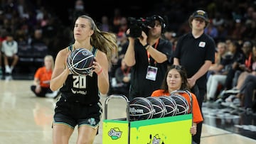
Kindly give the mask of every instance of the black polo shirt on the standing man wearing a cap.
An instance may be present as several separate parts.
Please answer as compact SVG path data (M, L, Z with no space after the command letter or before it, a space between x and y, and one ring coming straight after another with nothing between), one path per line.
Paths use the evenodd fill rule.
M215 62L215 42L205 33L199 38L187 33L178 39L174 57L178 58L179 64L185 67L190 78L198 72L206 60ZM207 72L196 80L196 84L202 89L206 89L206 75Z

